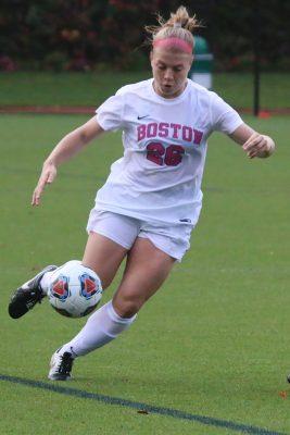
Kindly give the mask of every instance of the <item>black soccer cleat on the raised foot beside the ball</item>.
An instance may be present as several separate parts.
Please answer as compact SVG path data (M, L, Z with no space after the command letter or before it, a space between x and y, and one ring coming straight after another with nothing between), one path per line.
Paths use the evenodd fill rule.
M40 281L45 273L52 272L55 269L58 269L56 265L48 265L36 276L16 289L8 308L9 314L12 319L21 318L31 310L37 302L41 302L41 299L46 295L40 287Z

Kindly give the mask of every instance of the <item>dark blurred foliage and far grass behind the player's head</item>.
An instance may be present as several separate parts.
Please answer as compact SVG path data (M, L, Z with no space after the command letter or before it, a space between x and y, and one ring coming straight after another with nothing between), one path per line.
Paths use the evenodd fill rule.
M259 74L261 108L287 112L287 0L2 0L0 104L96 107L123 84L149 77L143 27L180 4L204 25L198 35L213 54L214 90L252 110Z

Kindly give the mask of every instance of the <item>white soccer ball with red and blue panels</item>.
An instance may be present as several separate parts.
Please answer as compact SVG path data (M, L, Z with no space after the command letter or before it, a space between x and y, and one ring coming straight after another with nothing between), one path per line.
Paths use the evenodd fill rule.
M99 276L80 261L68 261L50 276L49 301L60 314L83 318L100 302L102 285Z

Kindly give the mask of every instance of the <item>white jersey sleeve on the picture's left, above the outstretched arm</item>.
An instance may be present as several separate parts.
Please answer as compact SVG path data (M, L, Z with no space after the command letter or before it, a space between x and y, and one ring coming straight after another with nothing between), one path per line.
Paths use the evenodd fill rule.
M108 98L97 110L97 121L104 130L124 127L124 96L116 94Z

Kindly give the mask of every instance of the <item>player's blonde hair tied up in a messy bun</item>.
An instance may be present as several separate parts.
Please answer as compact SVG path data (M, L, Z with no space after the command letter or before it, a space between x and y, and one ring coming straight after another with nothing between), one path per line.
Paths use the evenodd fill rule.
M159 26L146 26L146 30L151 34L149 41L153 44L159 39L179 38L194 48L192 32L202 27L196 15L189 16L185 7L179 7L175 13L171 13L169 20L164 20L157 15Z

